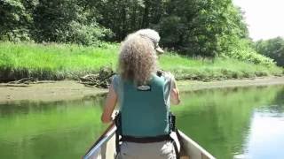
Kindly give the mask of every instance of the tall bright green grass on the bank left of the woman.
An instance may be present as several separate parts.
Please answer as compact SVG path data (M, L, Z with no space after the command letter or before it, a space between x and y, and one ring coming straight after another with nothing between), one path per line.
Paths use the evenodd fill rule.
M0 43L0 80L25 77L75 79L100 67L114 68L117 46L101 48L70 44Z

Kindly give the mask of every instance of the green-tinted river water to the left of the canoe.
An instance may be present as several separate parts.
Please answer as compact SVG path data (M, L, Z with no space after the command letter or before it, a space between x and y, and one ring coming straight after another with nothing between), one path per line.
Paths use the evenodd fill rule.
M102 98L0 105L0 158L80 158L105 129Z

